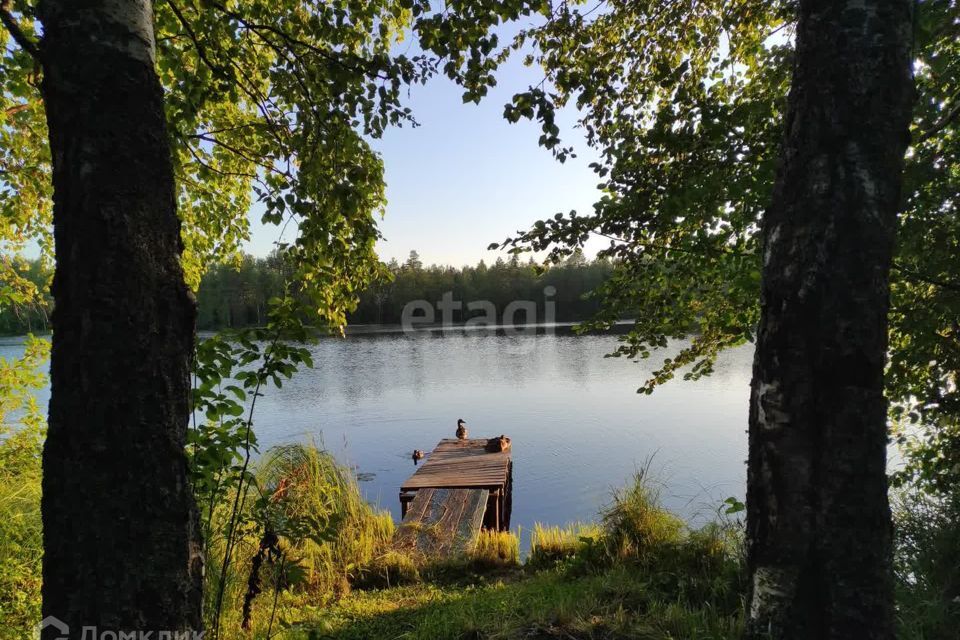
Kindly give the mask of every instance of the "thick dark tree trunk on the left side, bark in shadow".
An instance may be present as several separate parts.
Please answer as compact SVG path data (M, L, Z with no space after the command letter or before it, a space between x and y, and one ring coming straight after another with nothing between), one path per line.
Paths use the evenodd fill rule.
M41 0L38 11L56 247L43 615L70 638L199 630L184 455L196 311L152 6Z

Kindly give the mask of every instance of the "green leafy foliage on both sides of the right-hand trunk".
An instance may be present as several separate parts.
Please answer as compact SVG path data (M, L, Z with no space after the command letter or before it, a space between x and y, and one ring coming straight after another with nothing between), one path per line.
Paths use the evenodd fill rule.
M792 57L793 3L564 3L523 31L544 83L517 94L505 116L538 119L557 151L555 111L575 104L604 195L594 211L558 213L501 243L561 260L592 236L618 269L597 289L594 327L635 318L617 355L688 347L641 387L712 371L719 351L753 339L759 228L770 201ZM602 7L602 11L597 9ZM942 491L960 481L960 49L957 4L916 7L918 99L907 153L891 283L892 418L913 426L900 482Z

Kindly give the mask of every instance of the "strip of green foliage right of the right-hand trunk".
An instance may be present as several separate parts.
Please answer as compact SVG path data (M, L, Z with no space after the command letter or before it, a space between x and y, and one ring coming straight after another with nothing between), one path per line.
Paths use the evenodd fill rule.
M918 99L891 285L887 395L917 481L941 495L960 483L960 21L955 2L917 5Z

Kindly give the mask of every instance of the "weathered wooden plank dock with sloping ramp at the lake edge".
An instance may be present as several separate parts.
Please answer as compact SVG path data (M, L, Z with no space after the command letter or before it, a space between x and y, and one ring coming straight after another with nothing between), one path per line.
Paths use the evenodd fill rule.
M400 487L400 548L429 556L465 551L481 528L510 528L513 461L487 440L441 440Z

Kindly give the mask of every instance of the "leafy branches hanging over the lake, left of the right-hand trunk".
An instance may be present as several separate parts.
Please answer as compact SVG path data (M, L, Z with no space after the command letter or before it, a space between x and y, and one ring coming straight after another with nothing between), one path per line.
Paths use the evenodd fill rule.
M579 107L604 195L592 213L558 213L501 246L562 260L591 236L609 240L600 256L618 268L598 288L602 309L589 324L635 319L617 351L631 358L690 338L642 391L687 367L686 378L710 373L720 350L753 337L757 229L789 80L788 5L571 4L518 39L535 48L528 62L552 91L518 94L506 116L545 121Z

